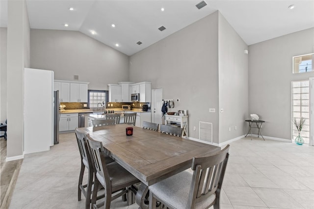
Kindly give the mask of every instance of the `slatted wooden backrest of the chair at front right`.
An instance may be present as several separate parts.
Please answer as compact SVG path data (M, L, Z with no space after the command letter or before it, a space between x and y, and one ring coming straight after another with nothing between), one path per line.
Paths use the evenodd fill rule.
M227 145L219 153L193 157L191 168L194 172L188 199L189 208L194 208L196 203L209 198L217 189L221 190L229 157L229 147L230 145Z

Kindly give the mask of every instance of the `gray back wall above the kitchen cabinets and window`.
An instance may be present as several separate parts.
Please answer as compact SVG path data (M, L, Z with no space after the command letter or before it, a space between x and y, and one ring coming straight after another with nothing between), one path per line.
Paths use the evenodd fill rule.
M129 56L81 32L31 29L30 67L54 71L54 78L90 82L107 90L109 83L129 80Z

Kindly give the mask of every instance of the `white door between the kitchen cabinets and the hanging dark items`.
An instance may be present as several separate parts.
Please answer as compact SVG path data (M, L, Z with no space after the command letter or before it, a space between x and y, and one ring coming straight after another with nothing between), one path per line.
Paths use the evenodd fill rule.
M152 123L162 124L162 88L152 89Z

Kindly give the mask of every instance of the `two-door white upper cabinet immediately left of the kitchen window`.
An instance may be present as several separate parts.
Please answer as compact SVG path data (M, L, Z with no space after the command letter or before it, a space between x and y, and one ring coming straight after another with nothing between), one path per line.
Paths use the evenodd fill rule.
M70 83L70 102L87 103L86 83Z

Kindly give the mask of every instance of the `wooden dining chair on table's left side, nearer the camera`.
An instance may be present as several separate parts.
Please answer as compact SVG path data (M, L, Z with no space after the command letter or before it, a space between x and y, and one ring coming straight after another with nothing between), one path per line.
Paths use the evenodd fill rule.
M92 206L94 208L99 208L105 205L105 209L109 209L112 200L123 195L125 196L128 192L132 192L129 188L135 183L140 183L140 181L117 162L106 164L103 143L93 140L89 134L85 136L88 139L89 151L92 156L92 163L96 173ZM99 184L105 188L105 201L96 204ZM114 196L112 196L113 193L115 193ZM128 205L132 204L130 194L128 195Z

